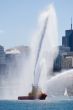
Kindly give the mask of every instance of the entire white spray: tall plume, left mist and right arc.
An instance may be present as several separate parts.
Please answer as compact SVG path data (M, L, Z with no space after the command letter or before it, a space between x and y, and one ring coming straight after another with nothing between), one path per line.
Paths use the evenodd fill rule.
M40 14L30 47L30 58L23 64L25 69L14 77L10 75L1 79L0 99L17 99L19 95L27 95L32 84L39 86L48 96L62 94L66 87L72 86L73 70L51 77L58 53L57 16L53 5Z

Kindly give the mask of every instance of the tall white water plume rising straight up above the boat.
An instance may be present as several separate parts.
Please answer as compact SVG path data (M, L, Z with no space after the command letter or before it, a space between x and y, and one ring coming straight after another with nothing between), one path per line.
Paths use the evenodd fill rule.
M38 28L38 35L34 37L34 43L32 45L32 58L34 58L33 64L35 65L37 60L38 48L40 48L39 46L41 43L41 49L39 52L39 57L34 73L34 85L40 86L43 89L45 81L51 76L53 62L58 53L57 16L53 5L50 5L46 11L40 14L38 20ZM41 42L42 37L43 40Z

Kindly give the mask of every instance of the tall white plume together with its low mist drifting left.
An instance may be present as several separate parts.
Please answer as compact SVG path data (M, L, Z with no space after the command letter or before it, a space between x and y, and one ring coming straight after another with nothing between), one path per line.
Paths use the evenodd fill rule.
M31 91L32 84L44 90L44 84L51 76L53 62L58 52L57 29L56 12L53 5L50 5L39 15L37 31L32 37L31 53L28 60L23 63L18 72L12 70L2 78L0 99L17 99L19 95L27 95ZM42 35L43 39L41 40ZM23 61L25 62L25 60Z

